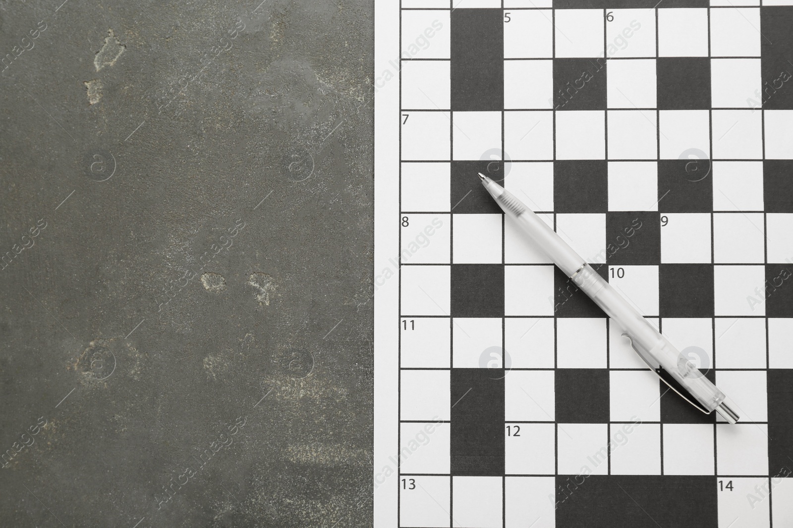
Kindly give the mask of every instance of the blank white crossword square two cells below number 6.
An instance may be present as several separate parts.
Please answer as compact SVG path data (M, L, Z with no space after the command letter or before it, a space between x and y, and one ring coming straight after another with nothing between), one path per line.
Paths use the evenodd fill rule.
M657 159L656 112L653 110L609 110L608 158Z

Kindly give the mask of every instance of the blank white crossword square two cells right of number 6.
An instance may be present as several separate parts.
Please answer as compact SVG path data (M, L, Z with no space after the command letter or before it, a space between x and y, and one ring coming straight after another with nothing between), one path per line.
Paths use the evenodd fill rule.
M760 8L711 9L711 57L759 57L760 38Z

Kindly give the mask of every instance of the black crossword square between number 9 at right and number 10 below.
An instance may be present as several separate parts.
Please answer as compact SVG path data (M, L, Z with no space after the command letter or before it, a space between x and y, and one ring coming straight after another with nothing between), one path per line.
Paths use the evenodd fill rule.
M661 220L653 211L606 215L606 256L611 264L657 265L661 262Z

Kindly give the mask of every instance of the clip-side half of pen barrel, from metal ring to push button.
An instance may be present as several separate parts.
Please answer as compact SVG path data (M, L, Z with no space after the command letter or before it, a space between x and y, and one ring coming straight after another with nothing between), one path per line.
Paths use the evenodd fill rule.
M661 367L691 394L708 412L724 401L725 395L711 380L680 354L668 339L642 317L603 277L585 264L571 277L585 294L611 317L630 337L631 346L648 367Z

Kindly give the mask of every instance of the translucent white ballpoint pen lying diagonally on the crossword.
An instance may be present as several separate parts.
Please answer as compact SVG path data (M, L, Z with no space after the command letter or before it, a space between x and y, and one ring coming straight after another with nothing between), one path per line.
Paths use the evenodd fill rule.
M724 403L725 395L691 361L680 354L674 345L661 336L625 298L607 283L592 266L573 251L546 222L542 222L534 211L515 198L505 188L479 173L479 178L490 196L534 242L534 245L554 261L580 290L584 291L611 320L623 330L630 346L670 388L684 397L700 411L710 414L714 410L724 419L735 424L739 418ZM660 367L660 368L659 368ZM671 378L671 379L670 379ZM682 392L681 392L682 391ZM688 393L695 401L687 397Z

